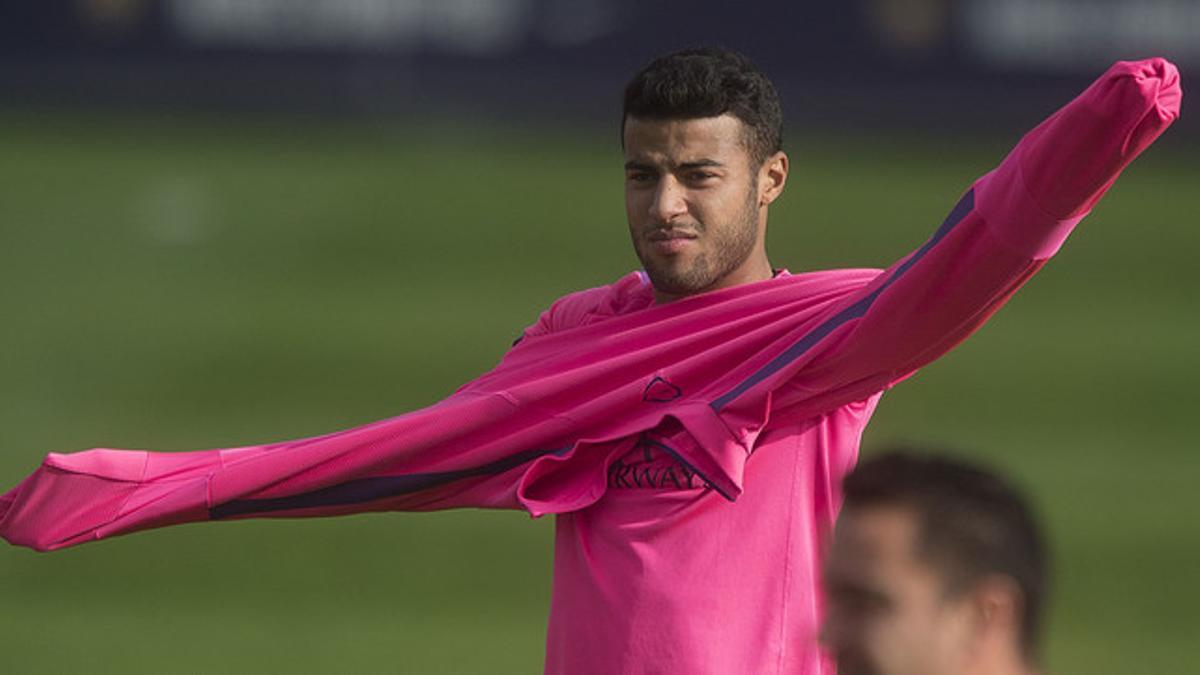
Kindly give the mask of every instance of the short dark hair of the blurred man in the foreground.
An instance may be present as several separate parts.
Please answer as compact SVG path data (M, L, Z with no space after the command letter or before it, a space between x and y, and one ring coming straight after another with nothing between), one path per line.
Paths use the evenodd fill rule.
M948 596L984 577L1013 579L1024 596L1020 647L1038 661L1049 591L1045 540L1028 503L998 473L948 455L890 450L864 460L842 482L844 507L901 506L917 516L917 554Z

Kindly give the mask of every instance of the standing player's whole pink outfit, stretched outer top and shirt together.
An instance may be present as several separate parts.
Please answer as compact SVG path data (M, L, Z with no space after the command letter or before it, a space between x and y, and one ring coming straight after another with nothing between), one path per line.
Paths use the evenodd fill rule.
M655 306L630 276L556 303L493 371L397 418L50 454L0 497L0 536L49 550L256 515L556 513L548 673L822 673L816 561L880 392L998 309L1180 98L1166 61L1115 65L882 273Z

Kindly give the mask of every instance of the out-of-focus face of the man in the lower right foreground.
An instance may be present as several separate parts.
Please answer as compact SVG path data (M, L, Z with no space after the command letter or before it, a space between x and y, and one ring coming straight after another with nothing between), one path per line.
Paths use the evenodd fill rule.
M899 506L842 512L824 569L821 639L839 675L968 671L972 608L949 598L918 558L914 514Z

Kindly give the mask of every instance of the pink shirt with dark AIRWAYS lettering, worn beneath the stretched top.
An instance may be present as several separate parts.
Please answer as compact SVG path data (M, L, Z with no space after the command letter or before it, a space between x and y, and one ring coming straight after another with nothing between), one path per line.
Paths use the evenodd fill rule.
M526 334L653 304L636 273L559 300ZM816 552L878 396L773 412L736 502L653 435L613 461L604 497L557 519L546 673L833 673L815 649Z

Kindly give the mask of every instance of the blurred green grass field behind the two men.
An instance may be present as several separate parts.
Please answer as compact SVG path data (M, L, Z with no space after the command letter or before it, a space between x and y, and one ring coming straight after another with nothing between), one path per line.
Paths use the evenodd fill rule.
M433 402L636 264L612 133L0 123L4 489L49 450L247 444ZM884 265L1013 141L802 137L772 261ZM1195 671L1200 163L1160 145L865 441L959 447L1028 486L1057 674ZM0 670L536 673L551 531L377 514L4 546Z

